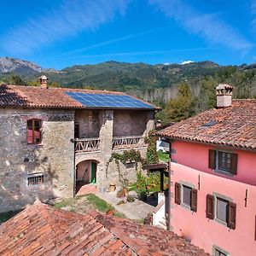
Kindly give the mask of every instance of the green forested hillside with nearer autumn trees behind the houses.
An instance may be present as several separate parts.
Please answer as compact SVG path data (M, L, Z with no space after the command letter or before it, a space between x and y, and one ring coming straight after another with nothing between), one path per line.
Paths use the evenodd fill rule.
M21 64L26 65L26 62ZM184 65L107 61L67 67L61 71L40 68L38 72L34 69L33 73L26 73L26 66L19 66L15 72L2 74L0 69L0 81L39 85L38 76L45 73L49 77L49 86L125 91L164 108L157 117L165 122L213 108L215 87L219 83L234 85L236 98L256 97L256 64L224 67L212 61Z

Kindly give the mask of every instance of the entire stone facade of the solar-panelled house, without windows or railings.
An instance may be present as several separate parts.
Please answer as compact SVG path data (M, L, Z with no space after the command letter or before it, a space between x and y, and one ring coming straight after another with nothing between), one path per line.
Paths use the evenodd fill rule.
M27 119L42 119L42 144L27 144ZM111 182L119 184L120 173L130 182L135 181L135 167L125 168L120 163L119 173L114 161L109 164L106 174L113 153L113 135L146 136L154 128L153 112L134 110L2 108L0 120L0 212L20 209L37 198L45 201L54 197L72 197L75 166L85 160L97 162L98 188L108 188ZM74 155L75 121L80 123L82 136L100 138L99 152ZM145 147L136 149L145 155ZM27 177L35 173L44 175L44 183L28 185Z

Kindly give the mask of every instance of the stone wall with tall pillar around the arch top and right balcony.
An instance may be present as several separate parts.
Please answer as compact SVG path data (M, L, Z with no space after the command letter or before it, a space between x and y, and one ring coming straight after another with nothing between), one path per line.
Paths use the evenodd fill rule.
M119 175L127 178L129 182L135 182L137 178L135 166L126 168L120 163L120 173L114 160L110 162L108 166L108 161L113 153L112 139L113 136L147 136L148 131L154 128L154 112L138 110L101 110L99 111L99 126L99 137L101 140L100 151L76 154L76 166L85 160L96 160L98 163L96 172L96 184L98 188L108 188L109 183L119 185ZM126 150L130 149L131 148L127 148ZM145 157L146 147L135 149L139 150L142 156ZM115 150L114 152L122 153L124 150ZM106 173L107 166L108 174ZM141 169L141 167L141 164L137 166L138 169Z

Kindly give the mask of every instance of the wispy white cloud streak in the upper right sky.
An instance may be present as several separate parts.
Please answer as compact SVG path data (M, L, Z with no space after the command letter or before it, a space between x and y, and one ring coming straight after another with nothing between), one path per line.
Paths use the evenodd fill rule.
M229 26L218 14L201 15L183 0L149 0L167 17L176 20L188 32L201 36L214 44L230 49L247 50L253 44L240 32Z

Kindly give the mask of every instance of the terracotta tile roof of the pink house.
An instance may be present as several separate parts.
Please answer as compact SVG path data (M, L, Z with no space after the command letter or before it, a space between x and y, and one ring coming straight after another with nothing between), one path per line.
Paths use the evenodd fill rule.
M157 131L162 137L256 149L256 100L234 100Z

